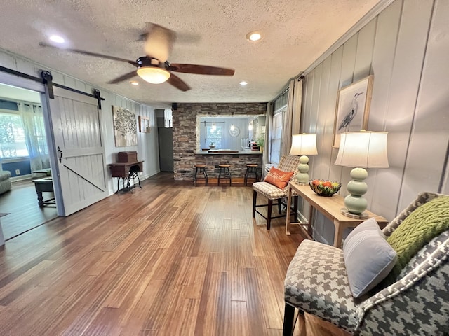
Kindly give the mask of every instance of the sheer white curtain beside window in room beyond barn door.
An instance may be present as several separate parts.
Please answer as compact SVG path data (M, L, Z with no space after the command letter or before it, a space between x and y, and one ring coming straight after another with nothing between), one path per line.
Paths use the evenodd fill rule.
M18 104L18 107L25 130L31 171L35 176L33 172L36 170L50 168L42 108L24 103Z

